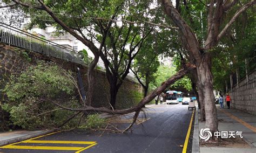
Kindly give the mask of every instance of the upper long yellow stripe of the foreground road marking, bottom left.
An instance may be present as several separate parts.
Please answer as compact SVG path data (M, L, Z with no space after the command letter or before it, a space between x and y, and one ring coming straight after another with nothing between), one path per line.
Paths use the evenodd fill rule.
M62 144L93 144L95 141L48 141L48 140L26 140L22 143L62 143Z

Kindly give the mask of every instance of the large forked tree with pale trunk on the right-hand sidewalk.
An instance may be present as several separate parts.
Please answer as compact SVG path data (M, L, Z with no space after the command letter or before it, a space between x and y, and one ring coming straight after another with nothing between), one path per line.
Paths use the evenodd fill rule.
M227 30L234 23L235 19L246 11L256 1L242 2L239 8L238 1L206 1L205 13L207 12L207 26L205 26L206 35L205 42L200 44L197 36L188 24L187 20L180 15L178 10L168 0L161 1L166 15L172 19L175 25L179 27L182 34L186 50L191 53L197 67L198 80L200 89L203 91L203 101L205 105L206 127L212 132L218 130L217 110L214 105L213 95L213 75L211 72L212 57L211 50L218 45L219 41L225 36ZM225 16L226 12L235 9L235 13L231 18Z

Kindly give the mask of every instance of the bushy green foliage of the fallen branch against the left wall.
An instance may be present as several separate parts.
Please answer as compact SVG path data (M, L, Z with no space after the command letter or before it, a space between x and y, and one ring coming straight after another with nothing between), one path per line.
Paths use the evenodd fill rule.
M66 107L78 106L77 100L72 97L75 87L66 77L67 73L50 62L39 62L19 77L12 76L4 89L9 102L2 106L10 113L12 124L30 130L53 128L72 115L73 112L43 100L61 102Z

